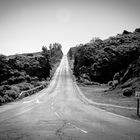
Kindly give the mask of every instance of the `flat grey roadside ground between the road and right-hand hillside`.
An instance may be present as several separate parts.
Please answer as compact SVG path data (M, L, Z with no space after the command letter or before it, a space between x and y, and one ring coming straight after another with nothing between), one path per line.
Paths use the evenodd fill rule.
M105 85L78 84L78 86L85 97L93 101L92 105L118 115L140 120L140 117L136 115L137 100L134 96L124 97L119 93L121 89L108 91L109 87Z

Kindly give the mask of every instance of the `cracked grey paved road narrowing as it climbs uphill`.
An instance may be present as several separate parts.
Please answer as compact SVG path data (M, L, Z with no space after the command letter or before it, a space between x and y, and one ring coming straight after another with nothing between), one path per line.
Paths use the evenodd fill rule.
M140 123L88 105L64 56L50 86L0 107L0 140L140 140Z

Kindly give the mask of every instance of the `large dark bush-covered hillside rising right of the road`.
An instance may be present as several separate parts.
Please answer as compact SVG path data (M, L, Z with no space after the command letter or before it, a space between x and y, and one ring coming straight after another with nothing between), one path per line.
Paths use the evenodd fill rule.
M132 95L140 87L140 28L123 31L106 40L93 38L87 44L70 48L77 80L85 84L105 83Z

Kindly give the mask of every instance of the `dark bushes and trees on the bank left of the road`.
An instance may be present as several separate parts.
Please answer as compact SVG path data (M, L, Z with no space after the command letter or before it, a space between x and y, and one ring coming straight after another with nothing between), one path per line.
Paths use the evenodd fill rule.
M0 104L14 101L21 91L46 83L54 74L63 53L59 43L41 52L0 55Z

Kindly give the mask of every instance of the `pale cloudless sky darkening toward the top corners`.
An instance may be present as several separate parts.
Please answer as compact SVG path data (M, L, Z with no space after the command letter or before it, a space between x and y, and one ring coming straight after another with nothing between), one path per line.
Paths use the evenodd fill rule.
M0 54L70 47L140 28L140 0L0 0Z

